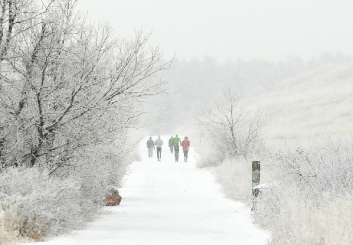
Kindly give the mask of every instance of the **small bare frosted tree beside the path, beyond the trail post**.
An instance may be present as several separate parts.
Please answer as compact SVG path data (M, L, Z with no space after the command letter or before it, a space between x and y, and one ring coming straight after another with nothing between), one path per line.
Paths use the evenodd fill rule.
M258 146L263 119L260 113L253 118L246 116L241 97L226 87L223 96L216 100L214 108L204 111L198 118L209 133L212 145L225 156L248 156Z

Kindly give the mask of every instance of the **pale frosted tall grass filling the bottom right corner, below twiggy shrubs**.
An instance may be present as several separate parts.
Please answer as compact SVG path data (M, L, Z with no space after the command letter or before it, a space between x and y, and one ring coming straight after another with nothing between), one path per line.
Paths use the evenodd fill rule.
M254 217L271 231L271 245L353 244L353 199L348 193L265 189Z

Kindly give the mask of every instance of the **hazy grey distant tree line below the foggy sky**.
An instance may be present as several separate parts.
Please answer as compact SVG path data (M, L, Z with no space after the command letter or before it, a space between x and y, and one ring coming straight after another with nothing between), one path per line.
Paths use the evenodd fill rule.
M213 107L215 99L223 96L228 84L246 99L256 93L303 82L305 76L352 61L350 56L329 52L309 61L298 57L289 57L284 61L245 61L239 58L229 59L225 63L207 56L202 60L179 59L174 62L173 69L165 72L170 81L170 94L160 94L149 100L142 123L156 134L169 133L180 128L181 120L189 124L195 122L198 111Z

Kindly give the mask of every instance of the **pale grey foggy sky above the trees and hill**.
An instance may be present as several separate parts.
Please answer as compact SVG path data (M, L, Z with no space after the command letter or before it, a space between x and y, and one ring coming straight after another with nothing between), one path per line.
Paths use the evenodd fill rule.
M80 0L77 9L124 38L152 31L166 58L353 55L352 0Z

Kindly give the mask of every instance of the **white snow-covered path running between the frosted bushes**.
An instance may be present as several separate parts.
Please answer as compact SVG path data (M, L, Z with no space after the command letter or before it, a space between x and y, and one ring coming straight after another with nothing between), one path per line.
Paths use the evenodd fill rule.
M154 137L153 139L156 139ZM120 193L120 206L85 230L37 245L264 245L269 234L251 222L250 208L226 199L213 175L196 168L190 148L188 162L179 162L162 137L161 162L149 158L140 144L141 162L134 162ZM191 140L191 144L193 144ZM251 188L251 186L249 186ZM251 191L249 189L249 191Z

